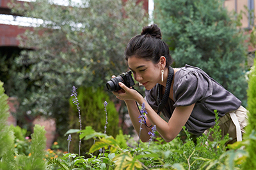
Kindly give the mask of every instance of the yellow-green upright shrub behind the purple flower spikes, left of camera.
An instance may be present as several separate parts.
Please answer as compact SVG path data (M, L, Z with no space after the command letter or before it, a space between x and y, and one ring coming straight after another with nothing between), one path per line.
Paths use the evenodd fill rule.
M106 124L106 115L104 114L104 101L109 101L109 96L103 88L93 89L92 87L80 87L77 89L77 99L81 110L81 122L83 125L92 126L96 131L102 131ZM69 115L69 128L80 129L78 111L76 105L72 103L72 97L70 98ZM108 104L108 125L107 134L116 136L118 134L118 113L113 102ZM70 151L72 153L78 153L77 146L74 143L79 142L79 136L72 135L72 144ZM81 144L81 152L84 154L88 152L90 146L93 145L93 139L83 142ZM74 147L76 146L76 147Z

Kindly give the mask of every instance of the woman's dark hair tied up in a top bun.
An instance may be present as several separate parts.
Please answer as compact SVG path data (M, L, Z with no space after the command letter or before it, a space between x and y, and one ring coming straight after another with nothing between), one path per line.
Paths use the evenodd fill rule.
M145 26L140 35L130 39L125 48L125 59L136 55L141 59L152 60L158 63L161 56L166 58L166 67L172 64L172 57L168 45L162 40L160 28L156 25Z

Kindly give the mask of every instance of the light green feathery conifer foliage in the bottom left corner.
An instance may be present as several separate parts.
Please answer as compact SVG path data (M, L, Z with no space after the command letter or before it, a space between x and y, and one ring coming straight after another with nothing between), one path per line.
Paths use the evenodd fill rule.
M30 154L25 155L25 153L15 153L14 145L14 132L12 129L15 129L16 135L21 138L22 132L19 128L10 128L6 124L9 117L9 107L7 104L8 96L4 94L3 83L0 81L0 169L29 169L29 170L45 170L45 161L44 161L44 150L46 144L45 130L44 127L40 125L35 125L34 133L31 135L31 150ZM19 130L17 130L19 129ZM22 134L17 134L21 132Z

